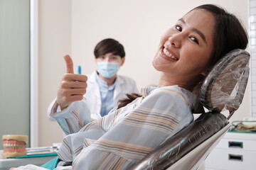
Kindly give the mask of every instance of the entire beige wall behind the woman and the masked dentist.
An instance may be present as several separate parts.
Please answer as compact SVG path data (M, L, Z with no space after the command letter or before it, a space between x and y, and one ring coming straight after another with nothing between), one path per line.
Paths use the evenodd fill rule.
M249 0L41 0L39 3L39 145L60 142L63 132L46 117L65 73L63 55L70 53L82 74L95 70L93 49L104 38L124 45L126 62L119 74L133 77L140 89L157 84L159 73L151 66L161 33L200 4L219 4L234 12L248 28ZM248 91L249 90L249 91ZM250 86L233 120L250 116Z

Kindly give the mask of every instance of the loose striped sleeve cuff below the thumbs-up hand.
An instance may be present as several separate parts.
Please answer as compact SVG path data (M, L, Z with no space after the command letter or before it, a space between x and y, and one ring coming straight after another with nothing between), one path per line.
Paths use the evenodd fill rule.
M90 123L90 109L85 100L75 101L63 111L59 111L58 108L58 103L55 101L50 108L49 116L58 122L66 135L78 132L87 123Z

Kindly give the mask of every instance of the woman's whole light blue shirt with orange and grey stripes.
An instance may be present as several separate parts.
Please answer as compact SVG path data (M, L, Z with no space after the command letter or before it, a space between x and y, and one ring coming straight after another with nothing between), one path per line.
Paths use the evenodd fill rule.
M50 115L70 134L58 156L73 162L70 169L130 169L191 123L197 105L198 97L178 86L146 87L142 97L90 123L85 101L55 113L56 104Z

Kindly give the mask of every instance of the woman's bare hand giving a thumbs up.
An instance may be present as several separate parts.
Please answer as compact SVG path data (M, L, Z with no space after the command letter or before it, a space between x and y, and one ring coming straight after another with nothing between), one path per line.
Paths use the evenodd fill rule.
M73 61L70 55L65 55L64 60L67 73L64 74L63 79L60 81L57 94L57 103L61 110L74 101L81 101L87 88L87 76L74 74Z

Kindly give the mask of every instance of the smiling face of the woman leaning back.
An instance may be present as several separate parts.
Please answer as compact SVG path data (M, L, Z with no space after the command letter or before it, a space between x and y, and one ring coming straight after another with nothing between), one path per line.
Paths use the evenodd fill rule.
M153 60L155 69L180 86L198 83L209 69L214 28L210 12L195 9L187 13L162 35Z

